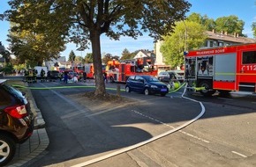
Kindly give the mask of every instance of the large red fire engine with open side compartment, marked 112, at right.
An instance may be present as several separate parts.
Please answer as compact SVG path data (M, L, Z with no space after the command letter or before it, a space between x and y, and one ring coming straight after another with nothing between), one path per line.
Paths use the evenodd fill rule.
M215 91L256 92L256 44L193 50L184 55L185 79L189 87L202 88L211 96Z

